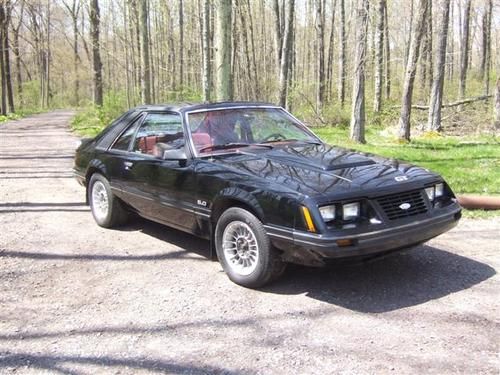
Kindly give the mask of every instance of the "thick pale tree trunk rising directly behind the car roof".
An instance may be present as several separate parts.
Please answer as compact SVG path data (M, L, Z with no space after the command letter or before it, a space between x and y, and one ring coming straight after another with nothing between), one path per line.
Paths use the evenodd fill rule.
M215 1L215 96L233 99L231 67L232 0Z

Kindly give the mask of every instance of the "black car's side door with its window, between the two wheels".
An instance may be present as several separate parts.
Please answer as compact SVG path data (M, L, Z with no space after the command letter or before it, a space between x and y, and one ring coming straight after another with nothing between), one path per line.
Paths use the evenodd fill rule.
M149 113L132 143L128 185L142 198L140 212L153 220L195 231L193 163L166 160L167 150L184 150L185 138L177 113Z

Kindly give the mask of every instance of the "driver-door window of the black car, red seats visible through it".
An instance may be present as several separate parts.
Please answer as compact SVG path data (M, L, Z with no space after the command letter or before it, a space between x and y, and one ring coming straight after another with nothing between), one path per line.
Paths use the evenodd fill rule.
M165 150L184 147L181 116L174 113L150 113L137 131L133 151L162 157Z

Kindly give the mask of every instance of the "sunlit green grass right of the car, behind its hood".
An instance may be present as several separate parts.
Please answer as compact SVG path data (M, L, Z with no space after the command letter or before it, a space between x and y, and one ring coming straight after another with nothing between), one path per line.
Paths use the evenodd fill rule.
M367 144L349 140L347 127L313 129L327 143L394 158L441 174L458 193L500 194L500 140L492 136L424 135L401 144L382 128L367 130Z

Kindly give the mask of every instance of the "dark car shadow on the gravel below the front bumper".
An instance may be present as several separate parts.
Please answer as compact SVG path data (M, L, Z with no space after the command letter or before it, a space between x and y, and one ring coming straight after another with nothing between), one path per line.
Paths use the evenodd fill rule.
M471 288L496 274L476 260L423 245L366 264L291 266L266 293L304 294L363 313L419 305Z

